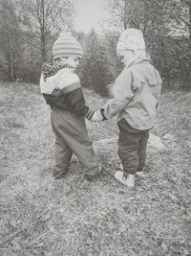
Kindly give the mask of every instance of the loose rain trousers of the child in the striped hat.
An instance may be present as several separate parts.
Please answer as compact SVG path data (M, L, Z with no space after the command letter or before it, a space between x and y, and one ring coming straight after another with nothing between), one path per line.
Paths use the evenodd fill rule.
M55 134L55 172L67 173L74 153L84 174L96 175L99 172L98 162L84 118L74 115L72 111L53 108L51 120Z

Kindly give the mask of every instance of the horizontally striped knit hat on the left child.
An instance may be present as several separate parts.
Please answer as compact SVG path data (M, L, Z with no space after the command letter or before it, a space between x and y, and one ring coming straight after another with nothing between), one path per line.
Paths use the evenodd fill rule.
M53 59L60 57L82 58L81 45L74 36L68 32L62 32L53 44Z

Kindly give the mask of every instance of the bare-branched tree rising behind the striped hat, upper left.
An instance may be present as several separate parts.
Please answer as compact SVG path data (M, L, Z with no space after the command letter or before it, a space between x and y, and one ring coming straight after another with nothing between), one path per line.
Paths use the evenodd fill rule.
M73 5L70 0L19 0L20 21L29 31L29 40L40 49L41 62L49 55L53 35L73 26Z

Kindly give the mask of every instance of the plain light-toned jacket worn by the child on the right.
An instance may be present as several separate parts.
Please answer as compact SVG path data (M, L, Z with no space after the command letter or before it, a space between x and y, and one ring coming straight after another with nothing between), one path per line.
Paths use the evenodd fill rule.
M113 87L114 98L103 105L101 112L106 119L118 114L132 128L153 128L161 91L159 72L149 58L137 58L126 66Z

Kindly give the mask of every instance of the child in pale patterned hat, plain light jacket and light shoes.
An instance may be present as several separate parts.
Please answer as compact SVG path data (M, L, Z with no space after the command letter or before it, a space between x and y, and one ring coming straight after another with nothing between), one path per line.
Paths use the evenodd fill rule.
M134 186L135 175L143 172L149 130L154 126L159 106L161 79L146 56L141 31L127 29L120 35L117 57L124 69L114 84L114 98L94 115L99 121L118 115L122 172L117 171L115 175L125 186Z

